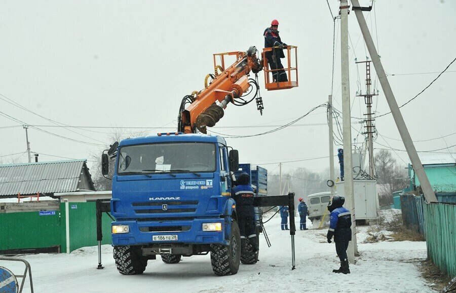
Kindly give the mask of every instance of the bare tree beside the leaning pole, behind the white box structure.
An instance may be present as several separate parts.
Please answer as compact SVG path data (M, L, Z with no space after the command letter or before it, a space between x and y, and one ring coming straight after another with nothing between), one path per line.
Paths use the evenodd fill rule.
M393 192L407 187L407 171L399 165L387 150L380 150L375 156L375 172L378 184L380 205L393 203Z

